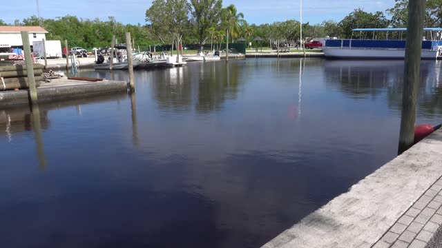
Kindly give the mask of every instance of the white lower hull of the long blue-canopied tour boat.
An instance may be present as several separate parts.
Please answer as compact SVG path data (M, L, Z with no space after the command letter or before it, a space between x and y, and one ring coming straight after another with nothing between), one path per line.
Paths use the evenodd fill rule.
M347 59L404 59L403 49L376 49L376 48L328 48L323 47L326 57ZM437 51L422 50L422 59L437 59Z

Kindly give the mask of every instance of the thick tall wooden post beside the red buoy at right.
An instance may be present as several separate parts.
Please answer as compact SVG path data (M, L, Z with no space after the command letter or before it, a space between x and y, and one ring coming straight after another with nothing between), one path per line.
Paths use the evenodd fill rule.
M425 0L410 0L408 3L407 45L405 48L405 73L398 154L405 152L414 143L417 95L421 76L424 14Z

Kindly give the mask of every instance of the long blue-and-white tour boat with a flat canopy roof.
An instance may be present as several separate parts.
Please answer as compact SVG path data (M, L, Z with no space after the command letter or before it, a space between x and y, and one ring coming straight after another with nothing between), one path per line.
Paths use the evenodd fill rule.
M389 32L398 32L402 38L406 28L356 28L353 32L361 32L365 37L373 39L328 39L323 46L326 57L342 59L404 59L405 40L388 39ZM430 32L431 40L422 41L422 59L442 58L442 28L424 28ZM376 32L387 32L387 39L375 39ZM353 35L352 35L353 37Z

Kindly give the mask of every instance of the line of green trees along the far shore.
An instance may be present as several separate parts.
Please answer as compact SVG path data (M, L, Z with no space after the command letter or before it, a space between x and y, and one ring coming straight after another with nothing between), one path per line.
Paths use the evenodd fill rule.
M442 26L442 0L426 1L425 26ZM354 28L403 28L407 25L408 0L395 0L392 8L384 12L365 12L355 9L341 21L323 21L318 24L303 23L304 37L359 38ZM390 16L390 19L386 16ZM255 37L263 44L275 41L300 39L300 22L297 20L250 24L233 4L223 8L222 0L153 0L146 10L145 23L122 24L114 17L108 20L82 19L74 16L39 19L32 16L22 21L0 25L42 25L49 34L47 39L68 40L70 46L84 48L104 47L111 44L112 35L124 43L124 33L131 32L135 47L146 49L149 45L163 44L213 44L235 42L240 37L247 43ZM366 35L366 34L365 34ZM380 34L382 35L382 34ZM364 37L363 37L364 38Z

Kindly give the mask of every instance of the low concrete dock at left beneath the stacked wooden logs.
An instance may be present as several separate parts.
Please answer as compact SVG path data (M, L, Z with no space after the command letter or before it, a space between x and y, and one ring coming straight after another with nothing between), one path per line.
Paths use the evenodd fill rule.
M37 87L37 97L39 103L49 103L126 92L127 89L128 83L124 81L91 82L61 78L52 79L50 83L41 83L40 87ZM28 105L28 97L28 90L0 92L0 107Z

